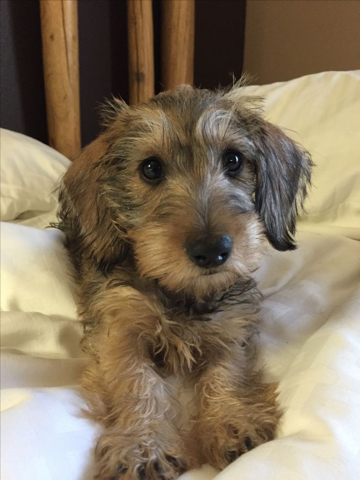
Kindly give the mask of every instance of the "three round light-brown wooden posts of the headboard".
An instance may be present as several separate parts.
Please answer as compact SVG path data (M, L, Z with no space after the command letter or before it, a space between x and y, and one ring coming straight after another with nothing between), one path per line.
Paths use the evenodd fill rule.
M128 0L131 103L155 94L152 0ZM195 0L163 1L161 81L194 82ZM76 0L40 0L47 128L50 145L72 158L81 148Z

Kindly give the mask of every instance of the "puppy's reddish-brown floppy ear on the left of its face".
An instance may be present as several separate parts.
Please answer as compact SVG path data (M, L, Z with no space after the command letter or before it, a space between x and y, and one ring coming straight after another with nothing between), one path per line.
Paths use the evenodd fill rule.
M126 256L127 243L113 218L106 189L101 182L109 148L102 134L75 157L64 175L59 193L58 227L67 235L74 262L87 258L106 274Z

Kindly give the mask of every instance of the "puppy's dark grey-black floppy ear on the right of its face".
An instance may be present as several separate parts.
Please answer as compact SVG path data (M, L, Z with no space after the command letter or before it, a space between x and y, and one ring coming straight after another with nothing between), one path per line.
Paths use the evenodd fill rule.
M255 205L276 250L296 248L296 218L311 182L312 161L278 127L259 119L255 146Z

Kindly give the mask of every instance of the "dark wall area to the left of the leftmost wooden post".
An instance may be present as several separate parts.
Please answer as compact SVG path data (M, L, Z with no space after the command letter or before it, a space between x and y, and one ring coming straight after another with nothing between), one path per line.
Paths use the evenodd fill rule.
M40 7L0 0L0 125L47 141Z

